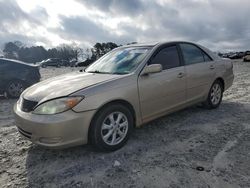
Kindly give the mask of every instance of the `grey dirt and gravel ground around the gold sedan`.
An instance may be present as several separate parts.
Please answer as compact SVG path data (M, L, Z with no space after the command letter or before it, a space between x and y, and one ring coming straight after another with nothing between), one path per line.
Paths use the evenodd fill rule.
M250 63L237 61L234 71L220 108L157 119L112 153L33 145L16 130L16 100L0 99L0 187L250 187Z

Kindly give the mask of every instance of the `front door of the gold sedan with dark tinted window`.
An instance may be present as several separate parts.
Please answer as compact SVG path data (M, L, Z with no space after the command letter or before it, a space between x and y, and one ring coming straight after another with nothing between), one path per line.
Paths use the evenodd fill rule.
M186 76L176 45L158 50L148 64L161 64L159 73L138 78L142 119L144 122L163 115L186 100Z

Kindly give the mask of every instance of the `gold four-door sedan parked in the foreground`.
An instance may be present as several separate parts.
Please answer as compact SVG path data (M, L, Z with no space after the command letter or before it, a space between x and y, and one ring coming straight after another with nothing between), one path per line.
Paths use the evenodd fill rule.
M14 106L17 128L42 146L91 142L112 151L160 116L197 103L217 108L233 79L230 60L197 44L122 46L84 71L27 88Z

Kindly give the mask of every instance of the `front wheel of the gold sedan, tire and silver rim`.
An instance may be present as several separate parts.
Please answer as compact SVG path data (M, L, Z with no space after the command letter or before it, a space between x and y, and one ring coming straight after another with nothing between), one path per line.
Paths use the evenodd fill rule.
M104 107L91 123L89 135L91 144L101 151L118 150L129 139L133 123L133 115L125 106L113 104Z

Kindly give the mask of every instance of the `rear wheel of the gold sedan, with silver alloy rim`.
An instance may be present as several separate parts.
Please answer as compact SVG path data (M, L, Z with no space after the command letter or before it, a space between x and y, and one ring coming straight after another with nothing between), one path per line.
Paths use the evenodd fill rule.
M223 97L223 85L219 80L216 80L211 86L206 102L204 103L205 107L208 109L218 108L222 101Z

